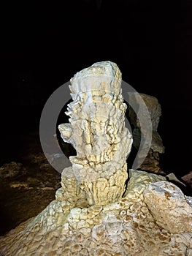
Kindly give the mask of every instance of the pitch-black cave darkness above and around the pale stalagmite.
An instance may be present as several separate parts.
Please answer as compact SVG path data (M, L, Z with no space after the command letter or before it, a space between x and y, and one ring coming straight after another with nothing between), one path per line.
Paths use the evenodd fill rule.
M97 61L114 61L123 80L158 98L161 165L191 168L191 1L71 0L1 8L1 164L38 132L50 94Z

